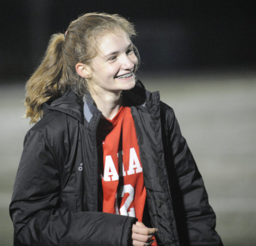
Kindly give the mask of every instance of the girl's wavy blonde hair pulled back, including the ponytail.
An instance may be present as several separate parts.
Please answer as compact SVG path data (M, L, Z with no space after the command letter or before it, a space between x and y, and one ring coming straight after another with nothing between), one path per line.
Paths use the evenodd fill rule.
M88 13L72 21L65 34L52 35L45 56L26 84L26 115L30 123L43 117L43 103L63 95L72 87L79 96L87 89L87 81L75 69L78 62L90 64L97 55L95 39L105 31L124 30L136 35L132 23L114 14ZM138 53L137 53L138 54Z

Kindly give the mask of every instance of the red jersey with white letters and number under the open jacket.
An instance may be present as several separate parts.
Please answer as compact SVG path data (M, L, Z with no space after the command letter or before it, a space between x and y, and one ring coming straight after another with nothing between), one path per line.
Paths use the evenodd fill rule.
M122 106L112 120L100 119L99 207L102 205L103 212L136 217L142 222L146 188L137 142L129 107ZM152 245L157 246L156 242Z

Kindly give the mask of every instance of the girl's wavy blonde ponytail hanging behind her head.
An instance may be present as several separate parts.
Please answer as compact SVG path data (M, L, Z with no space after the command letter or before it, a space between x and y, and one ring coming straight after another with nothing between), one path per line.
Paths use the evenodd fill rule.
M52 35L45 56L26 84L25 106L30 123L43 116L42 106L67 90L67 73L63 59L64 34Z

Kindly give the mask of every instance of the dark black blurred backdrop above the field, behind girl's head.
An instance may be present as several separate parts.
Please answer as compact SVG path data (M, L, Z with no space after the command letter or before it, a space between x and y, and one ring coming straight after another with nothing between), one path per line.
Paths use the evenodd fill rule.
M135 24L141 72L251 68L256 62L253 1L1 1L3 78L28 78L49 38L88 12L118 13Z

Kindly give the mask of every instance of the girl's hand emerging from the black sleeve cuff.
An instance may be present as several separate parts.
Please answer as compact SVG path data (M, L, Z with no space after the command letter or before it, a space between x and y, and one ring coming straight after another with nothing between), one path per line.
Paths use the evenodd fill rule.
M142 222L136 222L132 226L132 245L133 246L146 246L151 245L154 240L151 238L157 232L156 228L148 228Z

